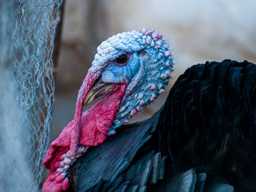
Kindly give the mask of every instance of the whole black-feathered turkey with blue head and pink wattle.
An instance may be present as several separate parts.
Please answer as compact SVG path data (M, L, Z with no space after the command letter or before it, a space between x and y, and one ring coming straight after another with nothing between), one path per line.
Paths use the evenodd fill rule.
M45 156L42 191L256 191L255 64L192 66L155 115L123 125L164 91L172 66L146 28L102 42L74 120Z

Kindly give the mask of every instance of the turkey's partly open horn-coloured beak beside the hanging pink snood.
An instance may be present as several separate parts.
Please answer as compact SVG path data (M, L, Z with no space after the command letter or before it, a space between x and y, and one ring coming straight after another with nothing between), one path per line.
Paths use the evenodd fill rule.
M102 96L104 93L108 93L111 85L113 84L98 80L87 94L83 104L87 106L91 104L92 101L99 98L99 96Z

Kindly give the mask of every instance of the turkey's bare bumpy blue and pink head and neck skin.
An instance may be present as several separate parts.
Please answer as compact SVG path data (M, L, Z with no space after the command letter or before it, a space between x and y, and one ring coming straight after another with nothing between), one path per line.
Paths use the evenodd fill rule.
M115 60L121 55L129 59L118 65ZM99 145L108 135L115 134L115 128L128 123L131 116L154 101L169 82L172 66L170 50L162 35L146 28L117 34L102 42L78 92L74 120L46 153L43 164L50 173L42 191L67 190L70 164L89 146ZM97 80L113 83L110 93L83 112L83 102Z

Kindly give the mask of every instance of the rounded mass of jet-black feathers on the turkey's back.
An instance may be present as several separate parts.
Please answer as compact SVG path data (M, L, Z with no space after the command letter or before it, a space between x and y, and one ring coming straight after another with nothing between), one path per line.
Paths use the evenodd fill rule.
M152 138L170 157L168 172L194 168L256 191L255 86L247 61L198 64L178 77Z

